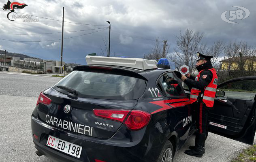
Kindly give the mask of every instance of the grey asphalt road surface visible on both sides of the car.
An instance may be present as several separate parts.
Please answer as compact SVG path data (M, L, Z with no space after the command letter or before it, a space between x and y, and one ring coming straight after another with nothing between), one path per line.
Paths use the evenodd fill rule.
M32 142L30 115L38 95L61 78L0 72L0 162L50 162L38 157ZM183 152L194 145L194 136L177 152L174 162L229 162L249 145L209 133L203 158Z

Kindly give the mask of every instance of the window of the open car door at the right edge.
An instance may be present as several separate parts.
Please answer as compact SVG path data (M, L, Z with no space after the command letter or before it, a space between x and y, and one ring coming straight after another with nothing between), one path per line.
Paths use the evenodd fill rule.
M254 100L256 94L256 80L244 80L229 83L219 88L225 92L224 97Z

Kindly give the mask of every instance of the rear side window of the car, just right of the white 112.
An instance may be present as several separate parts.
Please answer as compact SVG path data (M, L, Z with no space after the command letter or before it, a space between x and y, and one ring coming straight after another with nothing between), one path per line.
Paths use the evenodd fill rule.
M166 96L184 96L182 87L172 72L162 75L158 83L162 85Z

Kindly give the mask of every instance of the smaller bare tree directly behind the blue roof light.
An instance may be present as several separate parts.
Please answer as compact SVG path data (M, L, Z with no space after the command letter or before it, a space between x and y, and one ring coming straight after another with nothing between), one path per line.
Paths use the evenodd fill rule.
M149 54L144 56L144 58L147 60L156 60L156 61L158 61L160 58L166 58L170 45L166 44L167 40L164 40L164 41L166 42L162 45L162 42L159 40L158 37L156 37L155 46L151 49Z

